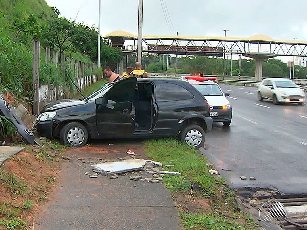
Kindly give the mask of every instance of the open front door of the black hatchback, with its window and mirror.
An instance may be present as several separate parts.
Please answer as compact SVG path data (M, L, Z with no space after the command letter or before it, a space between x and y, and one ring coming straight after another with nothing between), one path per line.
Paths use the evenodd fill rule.
M128 138L134 130L132 99L136 78L116 83L102 98L96 99L96 125L102 138Z

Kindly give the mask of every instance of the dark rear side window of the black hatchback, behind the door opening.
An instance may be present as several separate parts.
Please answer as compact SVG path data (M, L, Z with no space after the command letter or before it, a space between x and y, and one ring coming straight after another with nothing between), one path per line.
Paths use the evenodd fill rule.
M194 96L185 88L173 83L157 83L156 101L189 100Z

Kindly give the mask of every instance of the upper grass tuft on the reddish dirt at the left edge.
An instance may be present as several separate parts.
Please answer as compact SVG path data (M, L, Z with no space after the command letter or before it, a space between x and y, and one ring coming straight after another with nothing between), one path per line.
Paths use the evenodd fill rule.
M24 196L27 185L21 181L15 174L9 174L5 171L0 172L0 179L7 184L14 196Z

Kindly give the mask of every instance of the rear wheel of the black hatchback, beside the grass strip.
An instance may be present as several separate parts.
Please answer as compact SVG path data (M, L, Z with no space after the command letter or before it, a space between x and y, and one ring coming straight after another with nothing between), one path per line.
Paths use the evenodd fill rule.
M180 138L187 145L200 148L205 143L205 131L199 125L188 125L180 132Z

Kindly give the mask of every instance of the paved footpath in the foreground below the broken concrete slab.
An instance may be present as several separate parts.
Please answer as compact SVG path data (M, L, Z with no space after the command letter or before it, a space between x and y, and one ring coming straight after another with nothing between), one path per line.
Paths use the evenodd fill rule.
M162 184L135 182L131 174L89 178L90 165L76 155L63 165L61 186L40 212L36 230L182 230Z

